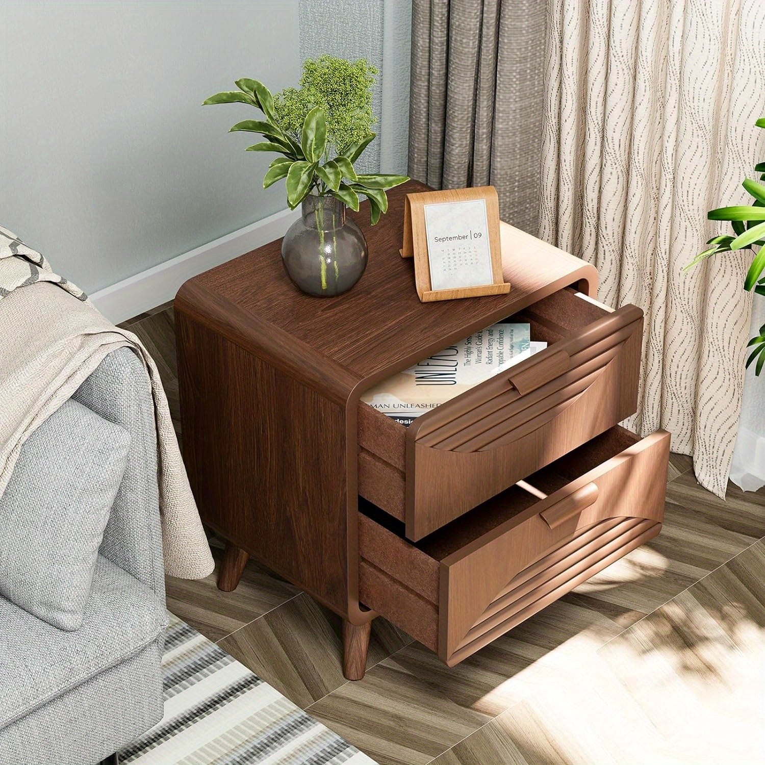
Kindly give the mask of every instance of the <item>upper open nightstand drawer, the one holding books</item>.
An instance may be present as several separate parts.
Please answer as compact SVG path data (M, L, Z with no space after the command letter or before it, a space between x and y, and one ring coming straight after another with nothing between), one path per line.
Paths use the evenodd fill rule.
M643 312L555 292L527 321L541 353L399 425L359 406L359 493L418 541L635 412Z

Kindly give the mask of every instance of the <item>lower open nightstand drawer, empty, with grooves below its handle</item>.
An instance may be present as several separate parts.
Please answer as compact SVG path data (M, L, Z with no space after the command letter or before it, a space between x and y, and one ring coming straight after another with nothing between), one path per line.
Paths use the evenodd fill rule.
M610 428L417 544L362 502L360 602L452 666L658 534L668 461Z

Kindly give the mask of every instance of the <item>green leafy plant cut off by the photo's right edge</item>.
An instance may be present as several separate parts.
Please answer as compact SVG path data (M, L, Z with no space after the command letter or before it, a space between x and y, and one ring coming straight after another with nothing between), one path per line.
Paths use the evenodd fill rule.
M754 125L765 129L765 117L760 117ZM765 162L758 162L754 171L761 173L760 181L765 181ZM745 178L742 184L754 201L750 205L735 205L734 207L718 207L710 210L707 217L709 220L728 220L733 228L733 235L721 234L713 236L707 242L708 249L699 252L697 256L685 266L684 270L692 268L696 263L702 262L719 252L731 252L740 249L749 249L754 253L754 258L744 278L744 289L757 295L765 295L765 185ZM757 247L757 252L754 251ZM760 327L760 334L753 337L747 347L754 350L747 358L747 366L755 363L754 373L759 375L765 366L765 324Z

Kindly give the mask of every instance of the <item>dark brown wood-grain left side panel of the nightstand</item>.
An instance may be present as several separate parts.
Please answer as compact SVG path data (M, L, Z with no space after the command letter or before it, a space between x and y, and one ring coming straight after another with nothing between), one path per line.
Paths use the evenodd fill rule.
M203 522L348 607L345 409L176 313L184 461Z

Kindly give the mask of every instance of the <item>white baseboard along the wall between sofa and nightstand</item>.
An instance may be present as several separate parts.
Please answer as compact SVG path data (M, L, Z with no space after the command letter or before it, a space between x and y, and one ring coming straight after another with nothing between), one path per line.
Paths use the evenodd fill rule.
M192 276L284 236L299 214L300 210L274 213L257 223L94 292L90 299L109 321L119 324L120 321L172 300L178 288Z

